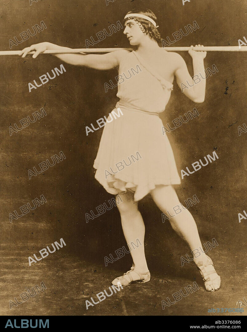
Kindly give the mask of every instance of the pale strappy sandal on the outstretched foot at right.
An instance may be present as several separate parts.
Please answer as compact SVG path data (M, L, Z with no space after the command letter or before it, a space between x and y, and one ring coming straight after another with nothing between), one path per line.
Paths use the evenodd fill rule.
M200 261L196 264L196 266L200 270L200 274L203 278L206 290L207 291L216 291L216 290L219 290L221 287L221 277L218 275L218 277L211 279L210 275L212 275L213 273L217 274L217 272L215 271L212 259L208 256L207 256L207 258L208 258L207 263L203 264L203 262ZM205 270L205 267L207 267L208 265L212 265L213 269L211 271L207 272ZM211 289L209 289L209 288L211 288Z

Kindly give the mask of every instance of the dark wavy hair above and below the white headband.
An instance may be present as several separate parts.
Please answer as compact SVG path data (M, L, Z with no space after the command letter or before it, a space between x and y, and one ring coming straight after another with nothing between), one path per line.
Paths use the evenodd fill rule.
M147 8L145 10L134 9L134 10L129 11L127 14L132 14L132 13L146 15L146 16L150 17L152 20L154 20L157 25L157 17L154 15L154 13L150 9L147 9ZM134 17L134 16L126 18L124 20L124 23L131 19L138 23L141 31L144 34L149 35L152 39L156 40L157 42L162 40L159 31L157 30L157 28L155 28L153 23L151 23L141 17Z

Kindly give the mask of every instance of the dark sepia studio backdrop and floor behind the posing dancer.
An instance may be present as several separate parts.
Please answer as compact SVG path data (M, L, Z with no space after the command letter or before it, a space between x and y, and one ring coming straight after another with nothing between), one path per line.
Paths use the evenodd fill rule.
M0 45L9 50L9 40L44 21L47 29L12 50L49 41L71 48L85 47L85 40L117 21L126 12L149 8L158 18L162 38L196 21L200 29L171 46L237 46L246 36L246 1L191 0L0 0ZM183 29L184 30L184 29ZM247 37L247 36L246 36ZM95 47L129 47L123 30L100 41ZM187 52L179 52L191 76L193 67ZM111 286L111 281L130 269L131 256L105 267L104 257L126 242L117 207L86 223L85 213L108 202L113 196L94 179L93 162L103 128L86 136L85 126L108 115L118 98L117 88L105 93L104 83L115 80L117 70L97 71L66 63L66 73L29 93L28 83L63 63L52 55L25 59L17 55L0 57L0 254L1 315L213 315L209 308L237 308L247 298L246 220L246 133L238 126L246 122L246 52L208 52L205 67L215 64L218 72L207 79L202 104L187 99L174 84L163 124L197 108L199 117L167 133L177 169L189 167L216 151L219 159L185 177L176 191L180 202L196 195L199 203L190 207L202 243L215 238L219 244L209 251L221 289L208 293L193 262L181 267L181 256L191 252L162 222L161 211L150 195L139 202L145 226L145 250L151 281L131 285L86 310L85 300ZM44 107L47 116L18 133L9 134L32 112ZM126 135L128 133L126 132ZM162 134L162 131L161 131ZM28 169L63 151L66 160L28 179ZM9 213L44 195L47 203L18 220ZM63 238L61 248L37 263L28 257ZM33 256L32 256L33 257ZM161 301L196 281L200 290L162 310ZM46 290L10 310L9 300L44 282ZM242 307L245 309L245 307ZM243 313L245 314L245 312ZM224 315L230 315L226 313ZM235 313L234 315L240 315Z

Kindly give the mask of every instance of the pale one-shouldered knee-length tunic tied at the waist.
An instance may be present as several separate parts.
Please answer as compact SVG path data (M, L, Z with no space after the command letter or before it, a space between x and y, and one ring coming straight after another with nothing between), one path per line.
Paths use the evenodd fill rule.
M96 180L107 192L117 195L131 190L134 201L139 201L156 185L180 184L172 147L159 118L173 84L135 51L121 60L121 77L120 101L107 118L93 167Z

